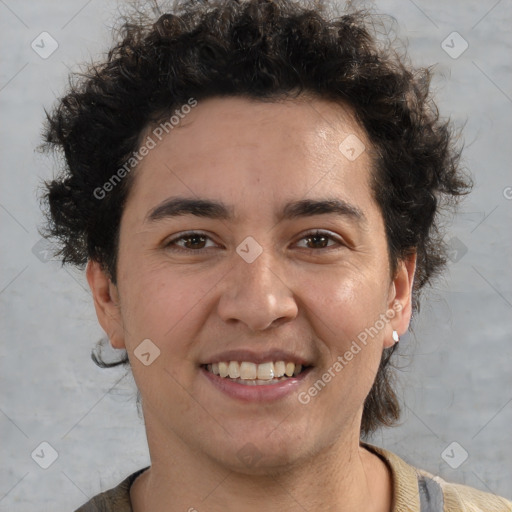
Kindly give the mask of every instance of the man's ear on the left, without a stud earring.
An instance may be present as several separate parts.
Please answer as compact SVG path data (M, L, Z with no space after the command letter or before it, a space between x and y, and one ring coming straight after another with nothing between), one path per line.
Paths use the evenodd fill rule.
M124 328L119 307L119 293L102 266L89 260L86 269L87 281L94 299L98 321L114 348L125 348Z

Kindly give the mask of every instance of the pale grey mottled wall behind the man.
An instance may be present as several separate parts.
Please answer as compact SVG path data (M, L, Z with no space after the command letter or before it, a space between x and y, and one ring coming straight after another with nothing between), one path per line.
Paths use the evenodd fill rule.
M396 17L415 64L436 65L438 103L465 124L476 186L449 231L453 262L400 342L403 423L373 442L446 480L512 498L511 2L376 7ZM36 189L55 167L34 152L43 107L64 90L69 67L108 49L116 12L112 1L0 0L0 510L74 510L149 463L133 379L90 360L103 332L86 280L45 260L36 229ZM30 46L43 31L59 44L47 59ZM441 46L453 31L469 44L457 59ZM58 453L48 469L31 457L43 441ZM452 465L468 453L455 469L442 457L454 441ZM49 461L48 449L36 453Z

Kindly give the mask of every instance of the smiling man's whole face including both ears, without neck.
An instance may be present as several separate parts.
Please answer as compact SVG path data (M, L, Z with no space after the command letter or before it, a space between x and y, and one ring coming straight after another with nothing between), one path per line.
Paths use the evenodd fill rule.
M372 165L348 107L320 99L205 100L145 156L117 285L95 263L87 276L150 443L256 471L358 438L414 273L391 275Z

